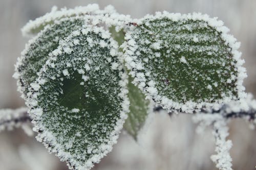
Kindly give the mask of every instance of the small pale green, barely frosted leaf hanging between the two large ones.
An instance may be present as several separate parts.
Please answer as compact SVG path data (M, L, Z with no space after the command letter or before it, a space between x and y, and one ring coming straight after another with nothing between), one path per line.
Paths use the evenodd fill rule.
M129 90L130 112L127 113L128 117L123 128L137 140L138 134L143 128L148 115L153 111L153 106L150 100L145 99L142 91L132 83L132 80L133 78L129 76L127 88Z

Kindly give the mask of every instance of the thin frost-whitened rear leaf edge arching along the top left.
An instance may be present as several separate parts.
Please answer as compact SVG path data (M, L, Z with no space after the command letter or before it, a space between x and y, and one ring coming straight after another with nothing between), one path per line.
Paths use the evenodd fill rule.
M60 10L52 10L44 16L30 20L26 26L22 28L22 33L24 36L34 35L61 18L74 16L90 18L90 25L100 25L103 21L107 27L116 26L116 29L119 30L131 20L129 15L118 14L111 5L100 10L98 4L89 4L84 7L78 6L74 9L62 8Z

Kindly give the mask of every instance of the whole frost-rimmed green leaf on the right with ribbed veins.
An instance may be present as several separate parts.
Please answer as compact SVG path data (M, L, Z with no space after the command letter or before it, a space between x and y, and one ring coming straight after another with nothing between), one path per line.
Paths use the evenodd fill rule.
M239 43L222 25L200 13L167 12L134 23L123 46L135 84L144 83L145 94L168 111L191 113L243 98Z

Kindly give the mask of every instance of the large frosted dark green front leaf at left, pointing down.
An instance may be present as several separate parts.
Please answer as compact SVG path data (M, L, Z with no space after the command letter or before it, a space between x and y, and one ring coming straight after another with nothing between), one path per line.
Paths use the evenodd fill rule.
M90 169L109 153L129 112L123 61L110 54L118 51L117 42L103 38L108 32L102 28L83 29L59 43L59 53L51 54L34 82L44 83L31 89L27 102L37 140L72 169ZM112 69L113 63L119 66Z

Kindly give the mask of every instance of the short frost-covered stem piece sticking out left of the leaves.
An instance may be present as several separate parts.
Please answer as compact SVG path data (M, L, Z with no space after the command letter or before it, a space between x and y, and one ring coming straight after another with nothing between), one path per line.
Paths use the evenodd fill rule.
M22 127L29 135L27 124L32 121L32 118L27 113L27 108L18 109L2 109L0 110L0 132L7 129Z

